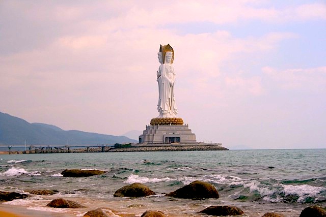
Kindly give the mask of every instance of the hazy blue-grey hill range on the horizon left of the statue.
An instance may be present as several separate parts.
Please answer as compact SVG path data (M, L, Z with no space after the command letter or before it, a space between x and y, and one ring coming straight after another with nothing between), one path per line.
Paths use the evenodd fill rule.
M65 131L45 123L29 123L21 118L0 112L0 144L20 145L24 142L33 145L97 145L115 143L137 143L125 136L112 136L88 133L77 130Z

